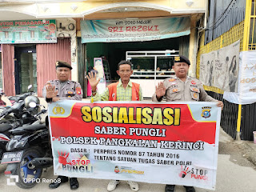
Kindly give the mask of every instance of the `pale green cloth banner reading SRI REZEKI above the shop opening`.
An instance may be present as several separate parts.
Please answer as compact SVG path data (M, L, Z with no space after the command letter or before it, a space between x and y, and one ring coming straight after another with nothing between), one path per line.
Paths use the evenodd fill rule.
M190 18L85 20L80 22L82 43L140 42L190 34Z

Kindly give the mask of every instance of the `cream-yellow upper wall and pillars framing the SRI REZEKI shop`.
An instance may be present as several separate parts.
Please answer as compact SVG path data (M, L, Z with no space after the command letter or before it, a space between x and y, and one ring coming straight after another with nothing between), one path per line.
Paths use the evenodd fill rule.
M1 5L1 3L0 3ZM80 33L80 19L107 19L107 18L154 18L154 17L179 17L191 16L191 34L190 34L190 50L189 58L191 62L190 75L195 76L196 69L196 51L197 51L197 29L196 23L199 19L206 17L208 6L207 0L194 0L190 5L187 0L130 0L126 1L79 1L79 2L42 2L31 3L19 2L0 6L1 13L20 13L30 15L32 18L55 18L57 26L62 22L75 25L77 33L74 30L62 30L58 28L58 37L62 38L63 34L71 38L71 65L72 80L78 81L78 52L76 36ZM128 10L124 10L127 7ZM136 10L137 9L137 10ZM74 19L72 19L74 18ZM74 22L75 21L75 22ZM203 22L201 22L203 23ZM66 28L67 29L67 28ZM65 33L63 33L65 32Z

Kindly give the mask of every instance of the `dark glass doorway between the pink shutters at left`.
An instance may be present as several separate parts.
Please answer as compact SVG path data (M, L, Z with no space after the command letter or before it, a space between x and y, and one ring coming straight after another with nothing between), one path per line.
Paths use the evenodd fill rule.
M35 45L18 45L14 47L14 74L15 93L27 92L27 87L32 85L30 91L37 93L37 54Z

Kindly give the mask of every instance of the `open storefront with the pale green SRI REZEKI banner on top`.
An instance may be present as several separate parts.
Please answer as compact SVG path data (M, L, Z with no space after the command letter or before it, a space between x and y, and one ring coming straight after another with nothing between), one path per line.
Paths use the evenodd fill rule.
M130 60L134 70L132 81L140 83L143 96L150 98L154 86L174 74L174 56L189 56L190 22L190 17L81 21L86 69L94 66L94 58L104 56L111 77L106 78L107 85L118 81L118 62Z

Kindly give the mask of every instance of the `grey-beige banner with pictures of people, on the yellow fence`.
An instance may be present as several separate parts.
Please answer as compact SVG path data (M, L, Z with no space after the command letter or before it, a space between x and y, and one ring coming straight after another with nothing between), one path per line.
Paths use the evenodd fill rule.
M205 86L215 86L228 92L238 90L240 41L200 57L199 80Z

